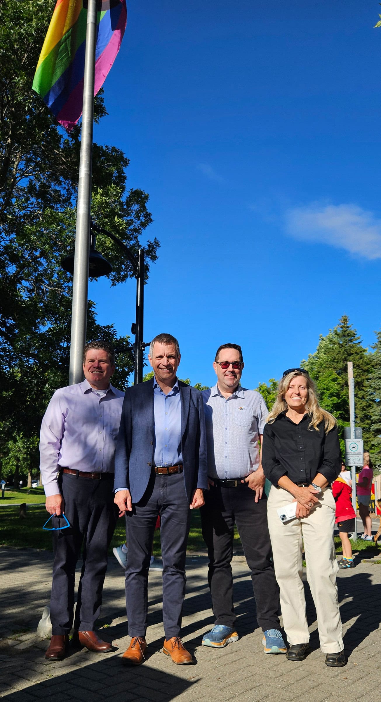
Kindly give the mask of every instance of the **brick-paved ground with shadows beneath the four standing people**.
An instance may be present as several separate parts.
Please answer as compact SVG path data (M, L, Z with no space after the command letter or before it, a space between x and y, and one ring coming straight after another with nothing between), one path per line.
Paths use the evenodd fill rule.
M101 636L116 651L92 654L74 651L61 662L43 657L47 641L33 634L48 604L52 554L0 549L0 696L11 702L62 698L64 702L121 701L245 702L270 698L296 702L381 702L381 565L357 560L355 569L340 570L338 590L345 650L345 668L327 668L319 649L314 607L307 588L312 653L302 663L263 654L262 633L255 618L251 578L243 557L233 559L235 603L240 641L221 650L202 647L202 635L214 623L206 583L206 557L189 557L183 640L196 665L176 666L162 654L161 573L149 575L149 628L146 662L126 668L120 654L127 648L124 574L110 559L104 584ZM21 632L24 633L21 633Z

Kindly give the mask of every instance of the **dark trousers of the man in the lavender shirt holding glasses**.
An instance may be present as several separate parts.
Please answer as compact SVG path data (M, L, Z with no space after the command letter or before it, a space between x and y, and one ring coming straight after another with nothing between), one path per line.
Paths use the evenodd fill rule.
M93 631L102 604L107 549L118 519L113 480L92 480L63 473L59 478L69 529L53 531L53 583L50 620L53 634L69 634L74 618L76 564L83 545L74 628ZM53 517L53 527L62 524Z

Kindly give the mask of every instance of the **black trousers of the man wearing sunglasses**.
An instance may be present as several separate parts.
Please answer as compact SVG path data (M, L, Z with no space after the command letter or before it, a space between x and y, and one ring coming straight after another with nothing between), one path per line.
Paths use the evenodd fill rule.
M235 488L211 486L205 491L205 506L200 512L209 555L208 582L215 623L233 628L237 619L230 566L236 524L251 570L258 625L263 631L279 629L279 588L271 559L265 494L256 503L255 492L247 484Z

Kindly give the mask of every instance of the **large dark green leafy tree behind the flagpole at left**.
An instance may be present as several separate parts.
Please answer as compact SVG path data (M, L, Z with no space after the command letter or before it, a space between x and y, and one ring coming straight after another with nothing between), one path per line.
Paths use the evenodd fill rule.
M68 135L32 92L39 53L55 0L4 0L0 4L0 381L4 410L0 460L13 446L35 441L54 390L67 384L71 276L61 260L74 250L80 128ZM95 121L106 114L102 93ZM94 144L92 218L137 253L144 248L146 276L159 242L142 241L151 223L148 194L127 188L128 159L112 145ZM97 248L113 266L111 285L132 276L113 242ZM99 326L89 303L88 338L119 349L116 384L127 384L132 347L112 324Z

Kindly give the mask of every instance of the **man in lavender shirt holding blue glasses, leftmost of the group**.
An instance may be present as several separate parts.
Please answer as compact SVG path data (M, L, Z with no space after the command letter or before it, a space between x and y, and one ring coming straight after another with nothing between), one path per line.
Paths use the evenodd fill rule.
M104 341L83 350L83 383L53 395L41 425L41 475L46 509L53 516L52 638L48 661L67 655L72 643L104 652L111 644L94 631L102 604L107 549L118 509L113 503L114 453L124 392L110 383L114 350ZM68 519L70 527L61 529ZM74 618L74 582L83 546L83 566Z

